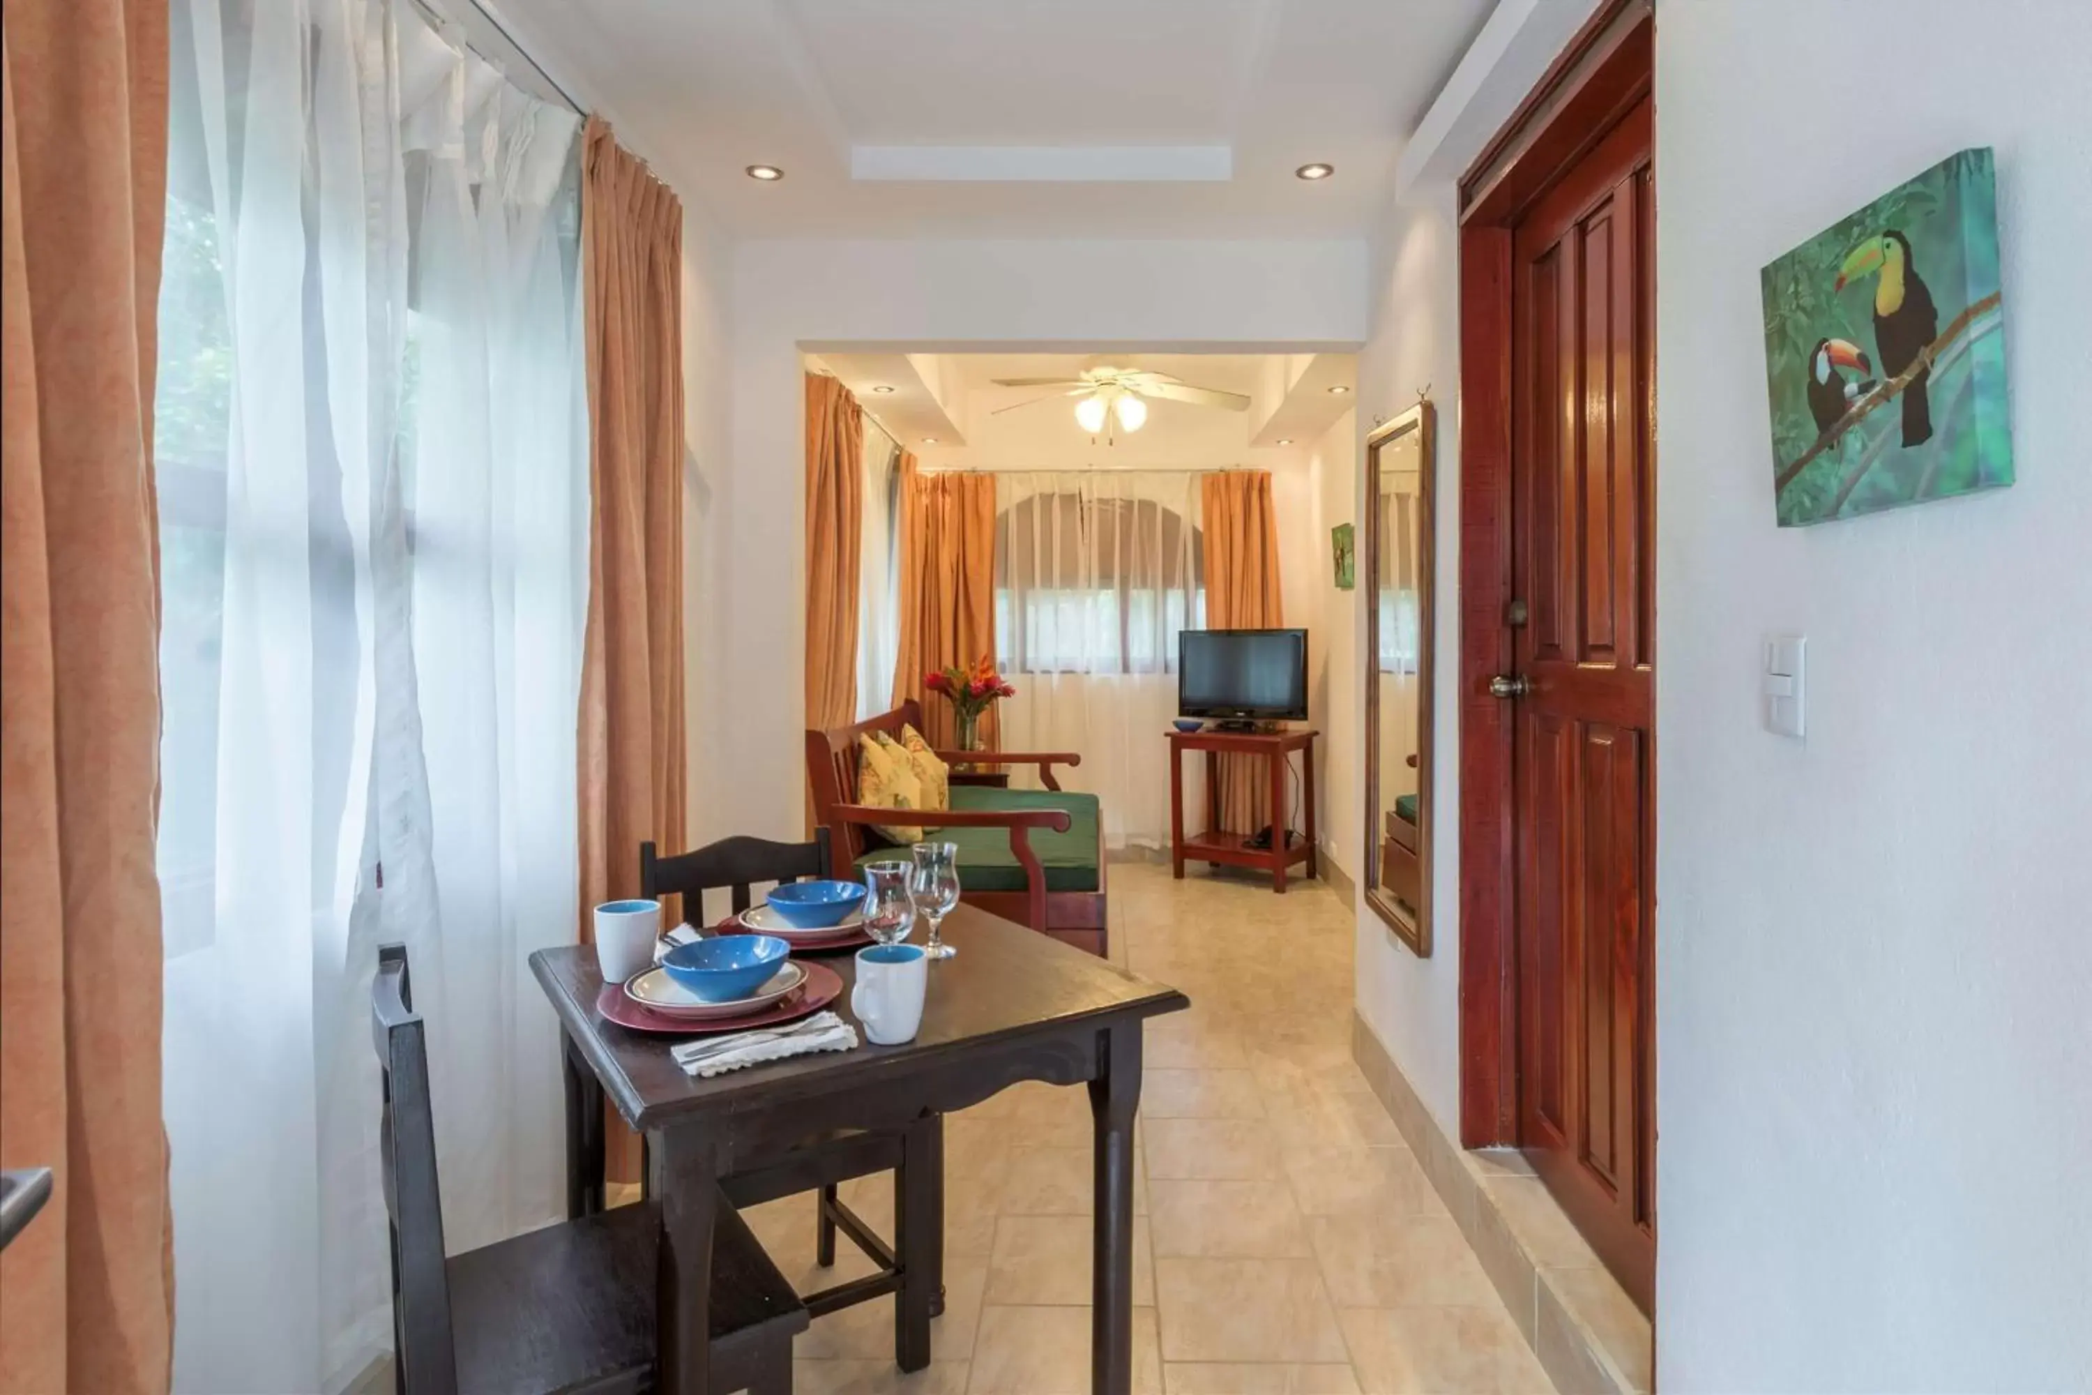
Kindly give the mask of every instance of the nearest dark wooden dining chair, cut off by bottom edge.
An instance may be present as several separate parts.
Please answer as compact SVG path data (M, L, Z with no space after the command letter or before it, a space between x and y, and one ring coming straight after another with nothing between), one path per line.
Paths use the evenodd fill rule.
M653 1391L659 1209L600 1211L446 1259L429 1050L406 945L379 947L370 1035L385 1100L379 1165L400 1395ZM722 1203L711 1238L713 1389L791 1395L791 1339L805 1326L805 1305Z

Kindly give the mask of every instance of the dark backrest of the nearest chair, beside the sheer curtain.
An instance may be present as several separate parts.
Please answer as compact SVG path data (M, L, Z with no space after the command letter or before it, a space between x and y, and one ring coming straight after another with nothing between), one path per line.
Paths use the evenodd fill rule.
M406 945L379 945L370 981L370 1039L379 1052L383 1115L379 1169L391 1230L393 1370L402 1395L452 1395L458 1362L444 1272L444 1205L435 1184L435 1108L429 1042L408 983Z

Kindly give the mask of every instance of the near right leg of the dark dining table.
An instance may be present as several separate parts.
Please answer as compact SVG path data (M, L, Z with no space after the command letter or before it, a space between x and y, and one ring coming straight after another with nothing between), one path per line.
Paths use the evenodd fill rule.
M1140 1023L1100 1033L1090 1081L1096 1125L1096 1221L1090 1274L1090 1393L1134 1389L1134 1108L1140 1104Z

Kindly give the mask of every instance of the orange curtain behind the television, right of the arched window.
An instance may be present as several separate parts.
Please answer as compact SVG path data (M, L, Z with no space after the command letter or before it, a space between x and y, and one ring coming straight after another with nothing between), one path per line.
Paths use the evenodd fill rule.
M1213 630L1282 625L1278 600L1278 514L1268 471L1207 475L1205 623ZM1257 832L1272 820L1261 757L1220 757L1220 826Z

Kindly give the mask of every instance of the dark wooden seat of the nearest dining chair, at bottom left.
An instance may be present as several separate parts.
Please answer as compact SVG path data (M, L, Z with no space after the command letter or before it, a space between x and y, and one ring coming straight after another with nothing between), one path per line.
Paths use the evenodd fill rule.
M659 1207L636 1205L452 1255L460 1395L651 1391L659 1234ZM722 1205L711 1242L713 1370L724 1376L761 1330L805 1324L791 1284Z

